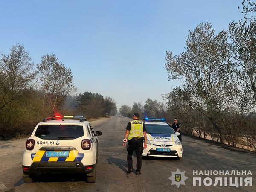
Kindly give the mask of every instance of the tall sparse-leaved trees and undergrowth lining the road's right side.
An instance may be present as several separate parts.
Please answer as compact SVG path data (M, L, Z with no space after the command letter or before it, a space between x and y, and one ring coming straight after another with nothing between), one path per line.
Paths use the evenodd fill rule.
M186 134L256 150L256 22L240 20L216 33L200 23L186 47L166 52L169 80L182 86L165 96Z

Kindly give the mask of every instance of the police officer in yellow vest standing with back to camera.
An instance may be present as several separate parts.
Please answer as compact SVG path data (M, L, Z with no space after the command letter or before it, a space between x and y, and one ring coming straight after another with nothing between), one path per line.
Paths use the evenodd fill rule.
M143 140L144 148L147 148L147 134L146 128L142 121L139 120L139 114L134 113L133 120L128 122L125 132L125 138L128 137L128 147L127 147L127 163L128 163L128 171L127 173L131 173L133 166L132 166L132 154L135 149L136 156L137 156L137 164L136 164L136 175L140 175L141 172L141 165L142 165L142 156L143 153ZM125 141L125 139L124 139ZM126 146L126 143L123 143L123 146Z

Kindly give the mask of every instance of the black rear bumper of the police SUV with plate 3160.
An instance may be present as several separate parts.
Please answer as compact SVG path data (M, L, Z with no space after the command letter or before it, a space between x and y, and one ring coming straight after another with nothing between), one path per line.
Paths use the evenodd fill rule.
M23 168L28 168L24 170ZM34 162L31 166L22 166L23 176L41 173L86 173L93 172L95 165L84 166L81 162Z

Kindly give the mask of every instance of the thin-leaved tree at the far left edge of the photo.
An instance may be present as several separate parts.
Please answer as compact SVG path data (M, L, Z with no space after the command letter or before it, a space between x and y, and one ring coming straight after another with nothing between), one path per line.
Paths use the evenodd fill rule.
M34 63L29 52L19 43L12 46L9 55L0 58L0 110L26 95L35 80Z

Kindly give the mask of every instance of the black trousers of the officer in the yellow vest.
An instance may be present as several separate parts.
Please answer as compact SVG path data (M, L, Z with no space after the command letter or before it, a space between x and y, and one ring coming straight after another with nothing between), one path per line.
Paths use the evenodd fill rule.
M134 137L130 140L128 140L128 147L127 147L127 163L128 163L128 168L132 169L132 154L133 151L135 150L136 156L137 156L137 164L136 164L136 171L140 172L141 170L141 165L142 165L142 156L141 154L143 153L143 143L144 138L143 137Z

